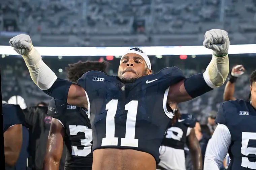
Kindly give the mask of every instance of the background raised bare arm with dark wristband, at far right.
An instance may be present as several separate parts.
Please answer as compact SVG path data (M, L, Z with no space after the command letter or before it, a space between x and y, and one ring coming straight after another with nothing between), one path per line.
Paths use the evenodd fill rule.
M235 92L235 81L237 77L241 76L244 74L245 68L243 65L234 65L229 76L228 76L228 81L225 86L225 90L223 93L223 100L228 101L228 100L235 100L236 98L234 97L234 92Z

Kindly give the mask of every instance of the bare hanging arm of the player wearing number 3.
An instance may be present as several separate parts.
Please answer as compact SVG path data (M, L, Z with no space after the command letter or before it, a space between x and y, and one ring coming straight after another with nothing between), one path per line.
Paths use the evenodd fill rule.
M43 170L59 170L63 151L65 131L58 119L52 118L48 136L46 154L43 161Z

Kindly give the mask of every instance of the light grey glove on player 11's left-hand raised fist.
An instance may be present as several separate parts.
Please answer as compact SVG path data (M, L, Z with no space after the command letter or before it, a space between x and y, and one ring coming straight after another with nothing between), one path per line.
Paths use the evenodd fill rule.
M27 55L33 48L29 35L20 34L10 39L10 46L20 55Z

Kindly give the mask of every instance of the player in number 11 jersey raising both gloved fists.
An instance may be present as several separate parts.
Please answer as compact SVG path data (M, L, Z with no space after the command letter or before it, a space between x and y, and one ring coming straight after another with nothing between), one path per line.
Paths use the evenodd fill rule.
M149 57L135 47L121 57L118 76L89 71L77 84L58 78L28 35L15 36L9 44L22 55L32 80L47 95L88 108L93 169L155 170L176 105L220 87L228 75L227 32L210 30L204 38L203 45L213 50L204 73L186 78L179 68L167 67L152 74Z

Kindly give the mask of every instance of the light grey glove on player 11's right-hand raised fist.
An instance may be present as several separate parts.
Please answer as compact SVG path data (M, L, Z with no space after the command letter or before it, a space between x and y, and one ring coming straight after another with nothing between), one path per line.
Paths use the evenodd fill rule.
M225 30L212 29L204 34L203 45L212 49L215 56L224 56L230 45L228 33Z

